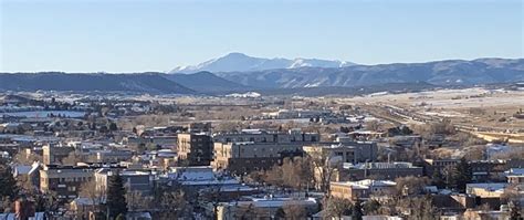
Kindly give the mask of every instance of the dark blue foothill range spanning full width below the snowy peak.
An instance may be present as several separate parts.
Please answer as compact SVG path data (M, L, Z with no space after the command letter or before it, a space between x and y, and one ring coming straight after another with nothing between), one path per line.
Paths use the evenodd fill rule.
M524 82L524 59L355 64L343 67L305 66L190 74L0 73L0 91L157 94L229 94L248 91L261 94L359 94L361 91L409 91L514 82Z

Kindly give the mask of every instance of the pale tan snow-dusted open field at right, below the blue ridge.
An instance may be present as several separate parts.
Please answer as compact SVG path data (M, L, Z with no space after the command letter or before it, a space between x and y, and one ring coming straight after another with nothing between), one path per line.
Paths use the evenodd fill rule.
M524 119L513 115L524 108L524 91L486 90L440 90L420 93L379 94L344 98L343 103L399 109L405 117L395 117L404 123L420 123L426 118L450 119L454 125L490 133L475 134L488 139L501 136L521 139ZM369 108L369 107L368 107ZM385 109L377 109L384 114ZM390 115L392 117L395 115ZM422 118L413 121L413 117ZM512 135L505 135L513 133ZM512 137L510 137L512 136Z

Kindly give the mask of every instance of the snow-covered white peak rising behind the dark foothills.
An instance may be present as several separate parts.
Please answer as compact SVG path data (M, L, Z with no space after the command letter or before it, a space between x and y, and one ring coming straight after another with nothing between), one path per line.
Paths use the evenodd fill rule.
M328 61L318 59L263 59L253 57L243 53L229 53L222 57L213 59L198 65L178 66L169 73L209 72L251 72L274 69L297 67L344 67L354 65L345 61Z

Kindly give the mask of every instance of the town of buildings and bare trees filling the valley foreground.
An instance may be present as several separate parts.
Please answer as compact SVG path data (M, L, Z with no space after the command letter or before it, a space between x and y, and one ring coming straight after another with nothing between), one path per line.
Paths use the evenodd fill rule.
M447 119L400 124L335 98L159 98L3 96L0 217L511 219L524 205L524 148ZM286 102L310 109L264 116Z

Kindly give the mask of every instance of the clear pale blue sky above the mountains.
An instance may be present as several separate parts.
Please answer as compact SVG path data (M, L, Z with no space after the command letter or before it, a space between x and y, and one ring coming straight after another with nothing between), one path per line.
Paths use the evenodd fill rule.
M0 72L169 71L229 52L523 57L522 0L0 0Z

